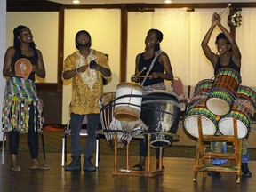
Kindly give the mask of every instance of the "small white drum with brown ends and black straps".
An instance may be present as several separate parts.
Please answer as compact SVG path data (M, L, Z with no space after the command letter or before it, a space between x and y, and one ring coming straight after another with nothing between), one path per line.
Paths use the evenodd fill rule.
M117 85L114 116L119 121L136 121L140 118L142 87L131 82Z

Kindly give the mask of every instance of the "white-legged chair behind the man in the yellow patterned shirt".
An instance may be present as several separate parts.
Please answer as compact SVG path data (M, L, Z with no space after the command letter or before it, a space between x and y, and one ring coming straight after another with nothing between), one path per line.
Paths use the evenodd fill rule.
M87 117L84 116L84 120L83 120L83 124L87 124ZM63 133L63 136L62 136L62 157L61 157L61 166L64 166L67 162L67 136L71 134L71 129L69 129L70 127L70 118L68 120L68 124L67 124L67 127ZM81 132L80 132L80 136L87 136L87 129L81 129ZM99 135L97 134L97 137L96 137L96 156L95 156L95 166L98 167L99 166L99 161L100 161L100 158L99 158L99 155L100 155L100 137Z

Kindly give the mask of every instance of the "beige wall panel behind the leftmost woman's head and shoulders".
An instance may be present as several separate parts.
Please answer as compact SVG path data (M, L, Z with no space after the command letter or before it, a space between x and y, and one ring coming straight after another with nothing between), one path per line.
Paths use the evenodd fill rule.
M25 25L32 31L36 48L43 53L46 77L37 78L37 82L57 83L58 17L59 12L7 12L6 46L13 45L13 29Z

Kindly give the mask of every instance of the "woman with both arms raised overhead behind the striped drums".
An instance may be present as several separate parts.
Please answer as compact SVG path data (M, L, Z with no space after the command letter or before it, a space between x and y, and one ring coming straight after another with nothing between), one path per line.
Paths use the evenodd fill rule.
M216 37L216 46L217 46L217 53L211 51L208 42L210 37L212 36L213 29L218 26L222 33L220 33ZM212 15L212 26L207 31L206 35L204 36L203 42L201 44L204 54L208 60L211 61L212 66L214 68L214 75L216 76L217 71L220 68L232 68L236 70L240 74L241 68L241 52L236 44L235 39L231 34L228 32L226 28L224 28L220 22L220 15L216 12ZM216 143L212 143L213 148ZM245 177L252 177L252 172L249 171L248 162L249 162L249 153L248 147L246 145L246 139L243 140L243 151L242 151L242 173ZM222 150L226 150L226 143ZM224 152L223 151L223 152ZM226 161L221 161L221 159L213 159L212 164L223 164Z

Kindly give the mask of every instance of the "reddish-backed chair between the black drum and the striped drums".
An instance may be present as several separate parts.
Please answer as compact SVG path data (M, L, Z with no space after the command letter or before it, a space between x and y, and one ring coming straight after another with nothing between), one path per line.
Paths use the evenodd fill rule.
M184 85L183 85L181 79L177 76L175 76L172 81L172 89L173 89L173 92L175 92L179 97L179 101L181 104L180 111L186 112L186 109L187 109L188 103L189 103L189 97L186 97L185 92L184 92Z

